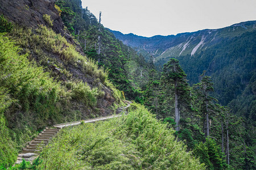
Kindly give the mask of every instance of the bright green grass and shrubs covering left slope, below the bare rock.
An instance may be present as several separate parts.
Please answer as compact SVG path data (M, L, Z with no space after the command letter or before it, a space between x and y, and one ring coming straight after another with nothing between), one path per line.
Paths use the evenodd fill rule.
M1 34L0 41L0 91L3 96L0 104L0 168L12 165L24 143L44 127L99 114L97 103L105 95L103 88L111 87L115 100L120 101L118 91L108 81L104 70L81 56L51 28L44 25L37 29L15 27L11 33ZM24 52L27 54L20 55ZM60 58L47 58L47 52ZM43 69L40 65L45 63L62 66L60 73L55 74L47 67ZM73 77L65 69L68 63L81 69L86 77L97 80L94 87ZM61 80L60 75L67 79ZM10 141L9 145L6 145L7 141Z

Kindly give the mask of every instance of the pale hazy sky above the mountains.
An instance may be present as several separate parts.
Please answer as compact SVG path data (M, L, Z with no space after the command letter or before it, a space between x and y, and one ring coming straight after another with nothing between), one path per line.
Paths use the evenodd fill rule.
M256 20L256 0L82 0L104 27L141 36L176 35Z

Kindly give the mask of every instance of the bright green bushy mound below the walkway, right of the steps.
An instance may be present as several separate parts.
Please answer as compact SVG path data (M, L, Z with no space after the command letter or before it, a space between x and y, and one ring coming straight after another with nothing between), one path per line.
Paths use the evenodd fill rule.
M204 169L174 130L141 105L127 116L63 129L43 150L46 169Z

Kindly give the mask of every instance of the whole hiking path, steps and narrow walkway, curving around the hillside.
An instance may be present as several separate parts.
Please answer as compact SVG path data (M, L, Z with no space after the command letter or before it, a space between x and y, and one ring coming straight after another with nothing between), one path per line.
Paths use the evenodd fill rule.
M18 158L17 158L15 164L21 163L22 159L24 159L26 161L30 161L30 162L32 162L34 159L36 159L37 156L39 155L40 151L42 150L42 148L44 146L46 146L48 144L48 142L51 140L51 138L53 136L55 136L60 131L60 129L62 129L64 127L80 125L81 122L84 122L84 124L86 124L86 123L90 123L90 122L107 120L109 118L120 117L120 116L122 116L122 114L120 114L120 113L126 114L127 113L126 109L128 107L130 107L131 102L125 100L124 103L126 103L127 105L125 107L117 108L117 110L116 110L117 114L115 114L115 115L91 118L91 119L82 120L82 121L68 122L68 123L64 123L64 124L57 124L57 125L53 125L54 128L52 128L52 129L49 129L49 128L44 129L42 131L42 133L39 133L39 135L36 138L34 138L32 141L28 142L28 145L22 149L22 152L20 152L20 154L18 155Z

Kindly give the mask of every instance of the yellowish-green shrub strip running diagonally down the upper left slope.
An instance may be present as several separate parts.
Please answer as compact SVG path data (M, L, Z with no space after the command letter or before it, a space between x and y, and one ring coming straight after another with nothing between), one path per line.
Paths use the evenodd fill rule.
M31 50L32 54L36 54L42 63L46 63L47 53L53 52L60 56L66 65L73 64L76 67L81 67L84 74L100 78L103 84L108 79L108 73L102 68L98 68L93 59L79 54L75 46L67 42L65 37L56 34L51 28L47 28L44 25L39 25L39 28L35 31L36 33L32 32L32 29L16 27L12 32L12 36L17 44L23 48L29 48L27 50Z

